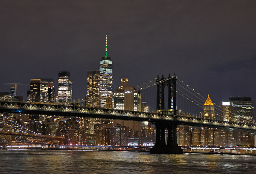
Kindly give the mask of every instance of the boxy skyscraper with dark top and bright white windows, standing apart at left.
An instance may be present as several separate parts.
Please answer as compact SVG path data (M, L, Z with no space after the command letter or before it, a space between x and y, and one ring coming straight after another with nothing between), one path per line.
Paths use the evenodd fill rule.
M58 72L58 96L57 102L72 102L72 82L70 72Z

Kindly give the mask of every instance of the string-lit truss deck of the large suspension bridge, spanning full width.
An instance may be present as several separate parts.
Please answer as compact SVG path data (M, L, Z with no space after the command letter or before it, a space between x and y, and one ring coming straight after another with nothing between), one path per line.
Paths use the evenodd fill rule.
M107 118L117 120L149 121L153 124L159 123L165 125L189 125L196 127L256 132L256 125L254 124L254 122L236 123L158 113L144 113L135 111L120 111L109 109L93 109L85 107L64 106L58 105L57 103L0 101L0 113L19 113L49 116L57 115L89 118Z

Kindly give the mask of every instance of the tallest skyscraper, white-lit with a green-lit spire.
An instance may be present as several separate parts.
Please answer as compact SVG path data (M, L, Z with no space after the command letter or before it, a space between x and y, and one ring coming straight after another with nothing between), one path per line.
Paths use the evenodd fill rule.
M112 97L112 60L107 56L108 45L106 36L106 53L105 57L100 60L100 97L101 97L101 108L105 108L106 100Z

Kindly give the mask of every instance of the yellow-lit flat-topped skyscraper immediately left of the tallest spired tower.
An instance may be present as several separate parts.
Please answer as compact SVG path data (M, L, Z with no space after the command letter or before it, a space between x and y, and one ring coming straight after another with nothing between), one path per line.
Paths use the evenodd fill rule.
M100 107L100 72L87 72L87 95L85 97L85 107L101 108Z

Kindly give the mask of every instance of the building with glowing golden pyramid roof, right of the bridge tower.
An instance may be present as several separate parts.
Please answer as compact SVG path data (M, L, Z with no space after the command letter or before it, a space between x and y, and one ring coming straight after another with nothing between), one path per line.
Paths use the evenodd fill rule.
M209 95L208 95L208 97L204 103L204 106L203 106L202 118L216 120L214 105L213 105L213 102L211 101L211 98Z

